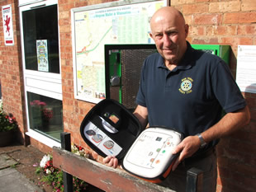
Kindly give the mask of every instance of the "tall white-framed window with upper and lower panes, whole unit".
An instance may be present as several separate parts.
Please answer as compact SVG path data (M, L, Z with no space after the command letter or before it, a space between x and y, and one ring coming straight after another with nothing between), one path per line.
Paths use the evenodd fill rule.
M58 1L20 1L26 119L31 138L60 146L63 132Z

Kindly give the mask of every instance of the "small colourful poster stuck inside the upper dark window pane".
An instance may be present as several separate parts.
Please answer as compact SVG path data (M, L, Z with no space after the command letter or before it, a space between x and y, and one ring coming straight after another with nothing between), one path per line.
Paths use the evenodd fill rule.
M36 40L38 71L49 72L47 40Z

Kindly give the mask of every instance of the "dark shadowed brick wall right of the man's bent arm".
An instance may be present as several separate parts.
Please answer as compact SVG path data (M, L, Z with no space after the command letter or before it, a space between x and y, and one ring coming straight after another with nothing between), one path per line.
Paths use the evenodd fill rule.
M217 146L217 192L254 192L256 189L256 83L245 90L251 112L250 123L220 140Z

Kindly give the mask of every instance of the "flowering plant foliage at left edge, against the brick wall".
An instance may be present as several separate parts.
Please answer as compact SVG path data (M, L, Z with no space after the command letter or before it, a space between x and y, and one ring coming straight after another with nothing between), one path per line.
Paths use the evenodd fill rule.
M0 132L17 129L17 121L12 114L7 115L2 109L2 101L0 101Z

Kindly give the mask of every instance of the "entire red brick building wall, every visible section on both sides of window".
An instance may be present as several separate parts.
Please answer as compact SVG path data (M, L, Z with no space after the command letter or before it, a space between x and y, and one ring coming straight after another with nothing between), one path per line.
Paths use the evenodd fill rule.
M80 136L79 128L83 117L94 104L78 101L73 96L73 55L71 35L71 12L73 7L83 7L104 0L59 0L59 45L63 89L64 131L71 133L72 142L87 147ZM189 24L188 41L192 44L230 44L230 68L236 73L237 46L256 45L256 1L254 0L171 0ZM17 1L4 0L0 6L12 4L14 46L5 46L2 31L2 10L0 20L0 77L4 108L17 118L21 133L26 131L24 88L22 79L20 29ZM229 137L221 139L218 145L218 187L217 191L253 192L256 189L256 95L244 93L251 112L248 126ZM23 134L20 140L24 141ZM31 139L31 144L42 151L49 148ZM93 153L92 157L102 158Z

